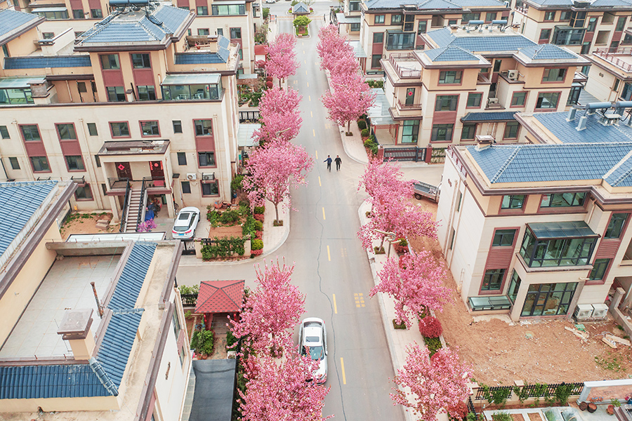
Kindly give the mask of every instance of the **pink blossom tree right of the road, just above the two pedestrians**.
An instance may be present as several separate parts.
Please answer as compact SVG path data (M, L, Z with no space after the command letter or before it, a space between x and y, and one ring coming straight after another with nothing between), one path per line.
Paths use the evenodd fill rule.
M373 105L375 93L362 79L362 76L350 73L332 74L331 84L334 93L322 95L322 103L329 111L329 119L339 126L351 130L351 121L367 112Z

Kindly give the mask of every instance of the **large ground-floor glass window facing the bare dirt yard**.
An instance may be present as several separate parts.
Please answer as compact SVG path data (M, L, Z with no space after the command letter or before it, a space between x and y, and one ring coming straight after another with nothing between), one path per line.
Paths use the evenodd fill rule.
M529 285L520 316L557 316L567 314L577 282L534 283Z

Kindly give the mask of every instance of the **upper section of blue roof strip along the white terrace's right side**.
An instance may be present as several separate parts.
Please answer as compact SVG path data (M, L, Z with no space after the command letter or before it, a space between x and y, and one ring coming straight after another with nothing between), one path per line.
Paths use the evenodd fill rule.
M156 243L149 241L134 243L112 298L107 304L109 309L114 311L134 308L140 288L143 288L147 269L149 269L154 257L156 246Z

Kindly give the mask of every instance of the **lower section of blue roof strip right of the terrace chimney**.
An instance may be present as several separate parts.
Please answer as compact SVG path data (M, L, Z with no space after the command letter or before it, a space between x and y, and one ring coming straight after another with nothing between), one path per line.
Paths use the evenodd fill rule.
M143 316L143 309L133 312L114 312L110 322L107 323L97 360L117 388L121 386L141 316Z

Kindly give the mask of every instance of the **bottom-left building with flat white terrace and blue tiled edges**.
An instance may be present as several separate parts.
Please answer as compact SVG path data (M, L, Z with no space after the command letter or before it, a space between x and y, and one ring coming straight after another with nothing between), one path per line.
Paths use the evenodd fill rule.
M62 241L75 189L0 184L0 418L179 420L192 360L182 243Z

